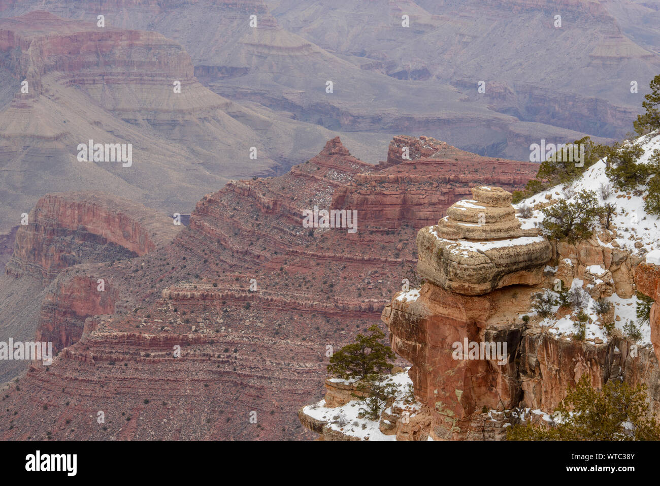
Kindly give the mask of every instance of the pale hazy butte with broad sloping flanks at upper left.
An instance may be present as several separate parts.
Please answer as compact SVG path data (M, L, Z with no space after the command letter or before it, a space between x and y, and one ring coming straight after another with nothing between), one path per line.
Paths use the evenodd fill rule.
M281 174L337 135L218 96L194 71L157 32L45 11L0 18L0 232L57 191L108 191L188 214L231 178ZM345 138L362 150L379 136ZM130 144L133 163L81 162L88 140Z

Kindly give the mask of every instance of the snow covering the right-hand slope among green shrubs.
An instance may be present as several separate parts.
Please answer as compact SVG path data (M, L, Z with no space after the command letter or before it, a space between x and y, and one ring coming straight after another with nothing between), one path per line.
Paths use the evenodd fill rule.
M640 137L638 143L642 143L644 147L644 155L639 159L639 162L648 162L649 157L653 154L655 149L660 149L660 135L648 139L648 137ZM603 199L601 193L601 185L611 187L611 193L609 197ZM644 193L645 188L640 186L639 188ZM605 162L599 160L589 167L582 176L570 184L568 190L564 190L563 185L554 186L546 191L535 194L528 199L521 201L518 204L513 205L516 209L528 205L533 207L537 203L543 203L547 201L546 195L551 195L552 199L566 199L568 201L574 200L576 195L581 191L592 190L596 193L599 203L604 205L605 203L614 203L616 204L616 214L612 215L612 227L616 228L618 237L615 238L617 244L620 248L628 250L632 254L645 255L645 260L647 263L654 263L655 265L660 265L660 227L659 227L659 218L655 215L649 215L644 211L644 199L642 195L634 195L633 193L624 193L620 190L616 190L614 185L611 184L607 174L605 174ZM623 195L623 197L616 197L617 195ZM523 222L523 228L535 228L539 227L541 221L543 221L543 213L541 210L533 211L533 216L527 219L519 218ZM602 229L602 228L600 228ZM599 231L597 231L599 232ZM636 238L641 238L642 247L635 248L634 244ZM601 246L607 248L614 248L612 243L604 243L599 240ZM566 263L572 265L571 261L566 259ZM546 267L546 270L556 272L557 268ZM592 275L601 277L605 275L605 269L599 265L591 265L587 269ZM601 282L597 280L596 283ZM573 282L573 287L576 285L583 285L583 281L576 279ZM554 294L557 295L556 293ZM595 312L594 304L595 300L588 297L588 302L584 308L584 312L591 318L591 322L587 324L586 339L595 339L597 337L603 339L607 342L607 331L599 327L599 314ZM607 298L611 305L614 306L615 316L618 316L620 320L615 321L614 326L619 330L623 331L624 326L631 320L632 322L638 324L636 309L638 305L638 298L633 296L632 298L620 298L618 295L614 294L611 297ZM552 309L553 314L558 310L558 306L554 306ZM535 314L535 312L527 312L529 315ZM576 312L574 312L576 314ZM523 314L521 314L522 316ZM573 333L576 333L577 328L574 326L574 321L569 318L569 316L562 318L554 318L552 316L545 318L541 322L541 326L546 326L551 333L556 335L570 337ZM651 341L651 328L649 324L642 324L640 330L642 331L642 339L638 341L640 345L646 345Z

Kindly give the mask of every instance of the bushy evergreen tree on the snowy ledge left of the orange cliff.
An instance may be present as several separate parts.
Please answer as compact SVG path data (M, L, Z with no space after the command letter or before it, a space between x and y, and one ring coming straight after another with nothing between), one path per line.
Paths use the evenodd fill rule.
M380 342L385 334L376 324L368 331L369 335L358 334L354 343L345 345L332 355L327 367L329 373L362 380L372 374L380 375L392 367L388 360L395 359L395 355L389 346Z

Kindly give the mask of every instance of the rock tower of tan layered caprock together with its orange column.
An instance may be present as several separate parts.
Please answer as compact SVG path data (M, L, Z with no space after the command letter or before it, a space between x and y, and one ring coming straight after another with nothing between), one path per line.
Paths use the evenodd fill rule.
M529 293L521 286L541 283L552 248L531 236L536 230L521 230L510 197L501 188L475 188L474 199L449 210L463 221L447 216L420 230L418 271L428 281L383 310L393 350L413 363L414 394L428 408L434 439L480 438L475 414L484 407L513 409L523 396L515 350L525 324L512 301L520 305L525 298L496 289ZM472 212L479 221L469 222ZM475 228L479 236L470 233ZM464 231L480 241L466 239ZM477 343L476 355L469 343ZM478 343L495 346L480 349Z

